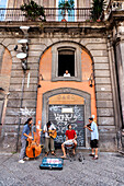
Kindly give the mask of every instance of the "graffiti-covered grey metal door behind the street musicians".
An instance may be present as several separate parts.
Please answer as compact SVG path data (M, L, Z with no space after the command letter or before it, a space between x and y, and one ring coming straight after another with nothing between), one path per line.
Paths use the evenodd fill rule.
M70 108L72 108L72 112L70 112ZM64 109L67 112L63 112ZM71 124L72 129L76 130L78 136L78 146L84 147L84 105L49 105L48 119L57 128L56 143L63 143L65 141L67 126Z

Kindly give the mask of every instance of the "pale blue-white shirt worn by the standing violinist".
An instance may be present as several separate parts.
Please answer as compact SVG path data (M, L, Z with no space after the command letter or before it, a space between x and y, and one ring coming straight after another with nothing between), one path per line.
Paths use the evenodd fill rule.
M98 126L94 121L91 123L91 140L99 140Z

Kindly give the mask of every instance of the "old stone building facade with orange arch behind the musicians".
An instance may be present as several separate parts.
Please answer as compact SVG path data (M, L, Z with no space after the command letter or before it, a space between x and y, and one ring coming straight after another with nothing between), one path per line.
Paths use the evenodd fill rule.
M1 13L1 148L15 150L30 116L37 129L48 120L55 124L56 144L65 140L71 124L78 147L89 148L90 132L83 126L92 116L99 126L100 149L117 150L123 128L123 2L109 1L102 22L90 21L91 1L75 0L67 22L60 20L59 1L37 3L47 8L46 22L27 21L16 9L22 1L8 1ZM19 40L25 38L29 69L24 73L16 54L23 47ZM66 70L70 77L64 77Z

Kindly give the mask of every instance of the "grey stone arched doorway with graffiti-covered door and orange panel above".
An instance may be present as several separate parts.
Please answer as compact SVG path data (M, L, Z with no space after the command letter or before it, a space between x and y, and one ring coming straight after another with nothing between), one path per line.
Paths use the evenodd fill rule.
M83 126L91 115L90 94L70 88L56 89L43 95L43 124L50 120L57 128L56 146L65 141L68 124L72 125L78 136L78 147L87 146L88 133Z

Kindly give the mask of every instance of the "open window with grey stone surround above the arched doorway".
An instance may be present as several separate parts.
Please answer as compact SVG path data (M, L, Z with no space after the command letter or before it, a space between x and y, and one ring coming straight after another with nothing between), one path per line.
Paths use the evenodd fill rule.
M64 75L68 70L70 77ZM52 81L81 81L81 48L70 42L52 47Z

